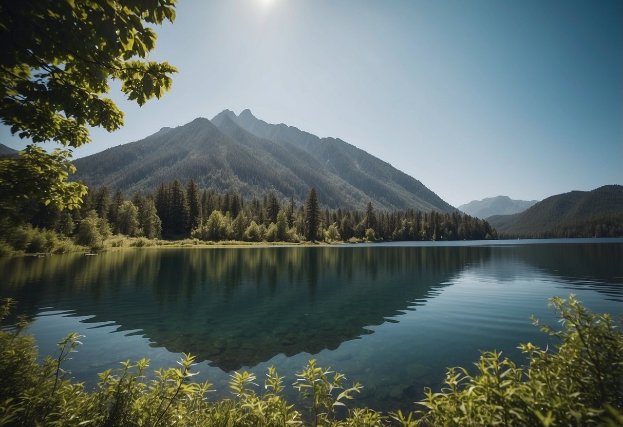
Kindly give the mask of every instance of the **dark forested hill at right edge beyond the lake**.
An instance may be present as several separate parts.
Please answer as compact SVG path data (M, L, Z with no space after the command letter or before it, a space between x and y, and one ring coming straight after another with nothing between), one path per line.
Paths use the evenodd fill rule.
M623 230L623 185L553 195L514 215L487 221L508 237L609 237Z

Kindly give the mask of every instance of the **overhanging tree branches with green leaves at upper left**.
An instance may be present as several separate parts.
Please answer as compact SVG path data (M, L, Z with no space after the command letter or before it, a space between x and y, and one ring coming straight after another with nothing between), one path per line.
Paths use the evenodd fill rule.
M70 149L88 127L123 126L123 112L103 95L119 80L144 105L171 89L175 67L148 60L156 33L148 24L175 19L176 0L0 1L0 121L32 141L19 157L0 159L0 217L19 220L25 199L74 209L87 187L67 182Z

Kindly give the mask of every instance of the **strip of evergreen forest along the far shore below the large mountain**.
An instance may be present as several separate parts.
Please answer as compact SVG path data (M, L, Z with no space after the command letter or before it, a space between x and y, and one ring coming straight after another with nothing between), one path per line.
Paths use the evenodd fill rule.
M245 200L240 194L199 189L190 179L162 182L155 192L126 195L106 185L90 189L81 209L56 210L23 203L25 227L4 221L3 251L72 251L72 245L103 250L113 235L195 242L394 242L497 238L486 220L435 210L333 209L320 205L315 187L304 201L279 200L274 192ZM114 245L114 243L113 243Z

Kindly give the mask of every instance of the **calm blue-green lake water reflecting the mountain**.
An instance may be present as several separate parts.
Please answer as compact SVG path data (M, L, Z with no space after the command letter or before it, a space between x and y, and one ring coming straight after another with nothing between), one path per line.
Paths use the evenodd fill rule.
M42 355L85 336L68 366L87 385L121 360L190 352L222 397L232 370L261 381L275 365L290 384L313 358L378 410L413 408L479 350L523 364L520 342L548 344L529 317L555 325L551 296L623 312L623 239L146 248L4 258L0 275Z

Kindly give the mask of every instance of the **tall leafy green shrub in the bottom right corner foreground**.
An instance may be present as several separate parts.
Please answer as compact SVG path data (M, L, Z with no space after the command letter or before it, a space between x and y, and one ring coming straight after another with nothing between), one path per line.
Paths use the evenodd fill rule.
M592 314L573 296L552 298L563 331L558 351L521 344L530 364L517 367L482 352L477 373L450 368L440 393L427 390L421 423L430 426L603 425L623 408L623 334L608 314ZM621 320L619 326L621 326ZM610 408L610 411L608 410ZM401 416L394 414L394 418ZM614 420L614 418L611 418Z

